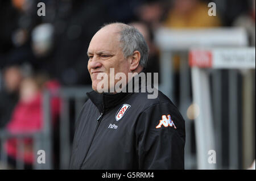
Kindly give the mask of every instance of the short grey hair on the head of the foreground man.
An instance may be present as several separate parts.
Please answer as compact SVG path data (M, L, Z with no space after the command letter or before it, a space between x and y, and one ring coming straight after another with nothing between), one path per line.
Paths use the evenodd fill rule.
M120 28L118 33L120 35L120 42L122 43L125 58L131 56L135 50L138 50L139 53L141 53L141 60L139 61L139 64L143 68L146 68L148 60L148 45L141 32L139 32L137 28L124 23L104 24L102 28L112 24L116 24Z

